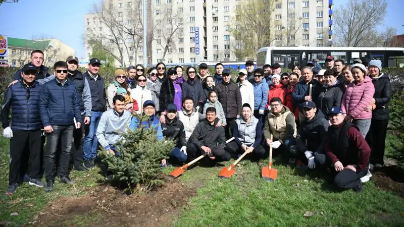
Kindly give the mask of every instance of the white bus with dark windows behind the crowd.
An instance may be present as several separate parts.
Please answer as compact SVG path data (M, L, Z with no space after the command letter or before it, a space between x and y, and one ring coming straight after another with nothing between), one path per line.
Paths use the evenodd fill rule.
M278 63L282 68L292 69L295 64L305 66L308 62L319 60L324 66L328 55L341 59L351 65L355 59L379 59L383 67L400 67L404 56L401 47L263 47L257 53L257 67ZM402 62L401 62L402 63Z

